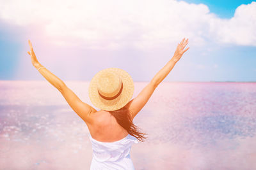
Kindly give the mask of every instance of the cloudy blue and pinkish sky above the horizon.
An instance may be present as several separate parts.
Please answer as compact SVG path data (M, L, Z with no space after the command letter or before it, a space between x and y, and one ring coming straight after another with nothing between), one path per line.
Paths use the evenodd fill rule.
M0 80L90 81L119 67L150 81L182 40L189 50L163 81L256 81L255 1L0 0Z

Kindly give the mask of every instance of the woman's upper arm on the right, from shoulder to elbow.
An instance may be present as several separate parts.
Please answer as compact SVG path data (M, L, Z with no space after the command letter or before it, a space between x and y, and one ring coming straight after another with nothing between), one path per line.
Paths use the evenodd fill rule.
M137 97L132 99L127 107L131 111L132 119L139 113L139 111L145 106L150 96L152 96L154 90L156 89L156 85L150 81L143 90L141 90L140 94Z

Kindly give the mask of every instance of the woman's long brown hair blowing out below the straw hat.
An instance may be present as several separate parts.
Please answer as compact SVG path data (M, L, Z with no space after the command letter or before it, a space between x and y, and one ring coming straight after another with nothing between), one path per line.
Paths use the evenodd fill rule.
M143 139L147 138L144 136L145 133L138 131L140 128L133 124L130 111L127 109L127 105L123 108L120 108L119 110L109 111L109 113L111 113L111 115L116 118L116 122L124 127L124 129L126 129L126 131L131 134L131 136L134 136L142 142Z

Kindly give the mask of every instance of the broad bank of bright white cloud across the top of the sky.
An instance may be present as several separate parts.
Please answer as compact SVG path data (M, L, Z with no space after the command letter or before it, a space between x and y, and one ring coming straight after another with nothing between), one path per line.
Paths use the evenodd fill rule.
M230 43L256 46L256 3L242 4L230 19L209 13L205 4L174 0L1 1L0 19L40 27L56 45L147 50L177 45ZM32 30L31 30L32 31Z

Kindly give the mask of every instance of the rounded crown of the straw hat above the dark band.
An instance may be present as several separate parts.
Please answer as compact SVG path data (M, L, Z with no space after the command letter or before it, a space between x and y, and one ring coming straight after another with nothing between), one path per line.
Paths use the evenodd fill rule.
M104 72L99 75L97 81L98 91L104 97L114 97L120 92L122 79L118 74Z

